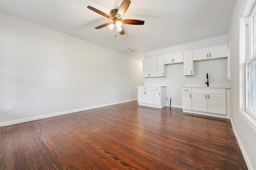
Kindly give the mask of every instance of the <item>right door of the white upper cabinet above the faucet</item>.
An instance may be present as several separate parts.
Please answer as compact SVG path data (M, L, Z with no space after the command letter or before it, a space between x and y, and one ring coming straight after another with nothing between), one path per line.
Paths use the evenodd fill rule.
M228 57L228 45L219 45L209 48L210 59L218 59Z

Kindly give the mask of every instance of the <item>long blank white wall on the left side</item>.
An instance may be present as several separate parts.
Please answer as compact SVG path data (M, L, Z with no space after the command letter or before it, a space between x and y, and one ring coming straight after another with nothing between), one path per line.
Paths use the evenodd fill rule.
M0 13L0 126L134 100L143 84L139 59Z

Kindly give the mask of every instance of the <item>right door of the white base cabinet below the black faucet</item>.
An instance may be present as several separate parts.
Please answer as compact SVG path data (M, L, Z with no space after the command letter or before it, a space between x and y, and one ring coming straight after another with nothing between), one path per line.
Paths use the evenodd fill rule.
M226 95L208 94L208 112L226 115Z

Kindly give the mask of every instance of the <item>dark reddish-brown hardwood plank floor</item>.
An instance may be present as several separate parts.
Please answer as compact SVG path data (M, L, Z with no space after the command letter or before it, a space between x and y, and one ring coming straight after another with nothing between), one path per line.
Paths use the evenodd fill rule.
M1 170L245 170L228 119L136 101L0 127Z

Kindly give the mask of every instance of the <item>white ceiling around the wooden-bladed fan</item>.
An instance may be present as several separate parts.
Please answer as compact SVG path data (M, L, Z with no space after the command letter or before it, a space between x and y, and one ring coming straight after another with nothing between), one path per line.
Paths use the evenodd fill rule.
M89 10L109 14L122 0L0 0L0 11L84 39L114 51L131 47L128 55L144 53L228 34L235 0L131 0L123 19L144 25L123 25L125 34L108 27L110 21Z

